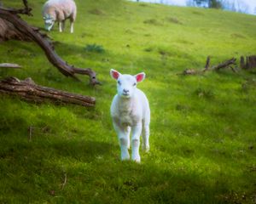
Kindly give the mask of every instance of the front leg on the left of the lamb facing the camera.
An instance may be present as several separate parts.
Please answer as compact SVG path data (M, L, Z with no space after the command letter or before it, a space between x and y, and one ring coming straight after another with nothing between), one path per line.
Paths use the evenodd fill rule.
M129 127L119 127L116 122L113 122L113 127L119 137L119 145L121 149L121 160L129 160L130 155L128 151L128 145L130 145L130 129Z

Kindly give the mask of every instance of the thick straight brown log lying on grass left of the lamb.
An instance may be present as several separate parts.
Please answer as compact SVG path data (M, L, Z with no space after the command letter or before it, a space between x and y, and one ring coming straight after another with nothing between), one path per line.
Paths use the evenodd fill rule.
M33 82L31 78L20 81L18 78L9 77L0 81L0 94L17 95L21 99L36 103L51 101L55 104L74 104L89 107L96 104L96 99L93 97L42 87Z

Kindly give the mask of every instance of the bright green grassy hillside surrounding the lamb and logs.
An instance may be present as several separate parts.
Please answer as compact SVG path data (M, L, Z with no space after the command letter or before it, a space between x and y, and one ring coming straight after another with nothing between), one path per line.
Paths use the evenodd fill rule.
M4 0L20 8L20 0ZM44 27L43 0L29 1ZM91 67L103 86L63 77L32 42L3 42L0 77L96 97L96 107L0 99L0 203L255 203L256 77L230 70L178 75L256 53L256 16L120 0L76 0L74 34L49 33L71 65ZM103 53L90 52L88 44ZM137 74L151 111L150 153L119 161L109 116L116 92L109 69ZM32 127L32 139L28 139ZM67 178L66 183L65 178Z

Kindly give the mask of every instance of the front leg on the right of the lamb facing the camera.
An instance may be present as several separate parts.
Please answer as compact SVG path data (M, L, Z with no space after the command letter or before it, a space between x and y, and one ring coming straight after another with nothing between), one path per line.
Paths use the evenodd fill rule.
M131 159L133 161L140 162L141 156L139 154L140 149L140 136L142 133L142 122L137 123L135 126L131 127L132 137L131 137Z

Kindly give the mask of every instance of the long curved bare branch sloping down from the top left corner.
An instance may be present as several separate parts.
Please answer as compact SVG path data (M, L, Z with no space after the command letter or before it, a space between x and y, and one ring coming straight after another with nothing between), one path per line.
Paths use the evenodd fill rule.
M21 39L22 36L24 36L31 39L33 42L36 42L39 47L44 50L44 54L46 55L49 62L52 65L55 65L55 67L61 71L63 75L76 78L77 80L79 79L75 77L75 74L88 75L90 77L91 85L101 84L96 79L96 72L92 71L90 68L82 69L76 68L73 65L67 65L67 62L61 59L58 54L55 53L53 44L49 42L49 39L46 38L45 34L39 32L37 28L29 26L26 21L20 19L18 14L31 15L32 10L31 8L27 7L26 0L23 0L23 3L25 5L24 9L9 9L0 7L0 20L2 19L4 22L8 22L6 25L12 25L15 27L15 30L17 30L17 33L19 33L16 35L11 35L11 37L15 36ZM9 30L9 27L7 30ZM5 34L6 32L3 33L3 35Z

